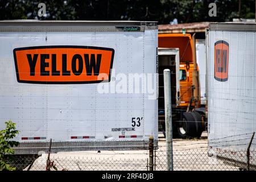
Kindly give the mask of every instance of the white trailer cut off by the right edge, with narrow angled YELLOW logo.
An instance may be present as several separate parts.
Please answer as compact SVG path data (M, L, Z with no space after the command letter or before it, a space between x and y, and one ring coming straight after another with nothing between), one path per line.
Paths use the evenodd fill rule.
M209 154L247 165L256 130L256 23L210 23L207 36ZM250 164L255 168L255 137Z

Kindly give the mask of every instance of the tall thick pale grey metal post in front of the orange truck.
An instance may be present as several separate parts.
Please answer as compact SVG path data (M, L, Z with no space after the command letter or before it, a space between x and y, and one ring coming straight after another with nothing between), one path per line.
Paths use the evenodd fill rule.
M164 69L164 113L166 117L166 155L167 169L174 170L172 151L172 104L171 104L171 73L170 69Z

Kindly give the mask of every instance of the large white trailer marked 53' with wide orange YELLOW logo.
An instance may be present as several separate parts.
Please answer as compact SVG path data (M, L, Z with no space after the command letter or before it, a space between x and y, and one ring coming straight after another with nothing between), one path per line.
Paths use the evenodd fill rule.
M1 21L0 129L15 154L147 148L158 138L156 22Z

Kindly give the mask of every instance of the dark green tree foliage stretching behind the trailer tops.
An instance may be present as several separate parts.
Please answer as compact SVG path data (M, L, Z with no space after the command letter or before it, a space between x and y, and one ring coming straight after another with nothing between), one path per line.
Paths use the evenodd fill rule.
M239 1L241 12L239 13ZM38 4L46 3L47 17L38 16ZM208 16L216 3L217 17ZM0 19L52 20L157 20L159 24L232 21L254 18L255 0L1 0Z

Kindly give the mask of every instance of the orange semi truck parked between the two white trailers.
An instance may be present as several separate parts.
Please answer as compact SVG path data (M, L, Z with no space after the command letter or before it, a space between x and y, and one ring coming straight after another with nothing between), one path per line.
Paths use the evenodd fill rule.
M195 36L158 35L159 130L165 135L163 70L171 71L173 136L200 138L207 126L205 107L200 104L199 69Z

